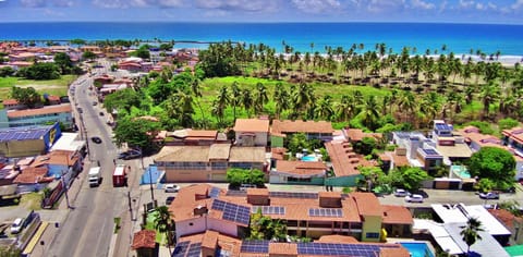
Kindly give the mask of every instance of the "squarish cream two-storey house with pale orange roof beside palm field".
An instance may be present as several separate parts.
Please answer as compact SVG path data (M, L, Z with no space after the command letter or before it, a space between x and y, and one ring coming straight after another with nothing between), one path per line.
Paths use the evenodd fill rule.
M236 119L234 127L238 146L267 146L269 139L269 120Z

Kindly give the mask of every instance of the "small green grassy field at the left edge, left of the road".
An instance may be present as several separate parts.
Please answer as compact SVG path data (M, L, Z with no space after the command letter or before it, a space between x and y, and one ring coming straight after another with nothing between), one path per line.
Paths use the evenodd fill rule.
M68 87L76 79L76 75L62 75L58 79L34 81L20 77L0 77L0 100L9 99L11 87L34 87L38 93L47 93L54 96L66 96Z

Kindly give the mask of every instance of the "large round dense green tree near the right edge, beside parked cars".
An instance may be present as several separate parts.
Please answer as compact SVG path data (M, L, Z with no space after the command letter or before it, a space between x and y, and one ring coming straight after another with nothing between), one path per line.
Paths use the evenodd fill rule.
M472 176L490 179L499 187L506 187L514 180L515 160L508 150L498 147L482 147L472 155L469 170Z

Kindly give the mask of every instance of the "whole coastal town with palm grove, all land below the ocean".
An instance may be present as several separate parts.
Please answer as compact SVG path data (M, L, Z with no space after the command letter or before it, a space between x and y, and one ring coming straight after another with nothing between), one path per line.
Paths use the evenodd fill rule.
M523 252L519 61L48 45L0 42L2 254Z

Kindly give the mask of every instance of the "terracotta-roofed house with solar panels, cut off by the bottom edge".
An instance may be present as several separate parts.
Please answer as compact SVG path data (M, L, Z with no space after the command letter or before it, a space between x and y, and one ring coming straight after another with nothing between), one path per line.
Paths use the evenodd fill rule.
M174 256L205 257L411 256L400 244L361 244L351 241L351 236L321 236L318 241L309 243L281 243L242 240L215 230L180 237L173 252Z

